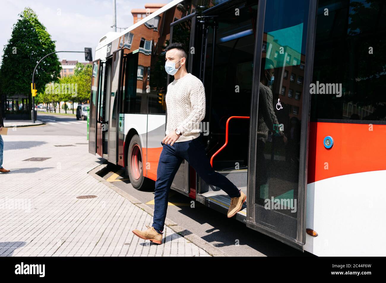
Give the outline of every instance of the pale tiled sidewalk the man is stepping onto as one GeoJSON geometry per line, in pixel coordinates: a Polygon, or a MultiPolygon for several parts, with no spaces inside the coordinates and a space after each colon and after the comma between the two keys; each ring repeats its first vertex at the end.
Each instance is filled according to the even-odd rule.
{"type": "Polygon", "coordinates": [[[87,173],[104,160],[85,137],[3,139],[0,256],[210,256],[169,227],[160,245],[135,236],[151,214],[87,173]],[[50,158],[24,161],[32,157],[50,158]],[[97,197],[76,198],[85,195],[97,197]]]}

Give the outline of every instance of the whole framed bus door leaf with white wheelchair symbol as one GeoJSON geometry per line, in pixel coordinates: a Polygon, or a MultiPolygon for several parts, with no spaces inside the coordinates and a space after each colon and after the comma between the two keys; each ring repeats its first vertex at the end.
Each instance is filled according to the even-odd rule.
{"type": "Polygon", "coordinates": [[[316,1],[259,1],[246,225],[303,251],[316,1]]]}

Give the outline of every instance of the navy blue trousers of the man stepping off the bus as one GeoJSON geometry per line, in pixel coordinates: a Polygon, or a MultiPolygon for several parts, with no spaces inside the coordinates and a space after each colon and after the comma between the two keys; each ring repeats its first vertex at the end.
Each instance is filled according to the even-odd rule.
{"type": "Polygon", "coordinates": [[[154,192],[154,216],[153,227],[163,231],[166,210],[168,209],[168,197],[171,183],[174,176],[186,159],[197,174],[207,184],[221,188],[231,198],[240,196],[240,190],[229,181],[225,176],[213,170],[209,158],[205,153],[204,144],[201,142],[201,136],[190,141],[174,142],[173,146],[164,144],[161,141],[163,149],[157,167],[157,181],[154,192]]]}

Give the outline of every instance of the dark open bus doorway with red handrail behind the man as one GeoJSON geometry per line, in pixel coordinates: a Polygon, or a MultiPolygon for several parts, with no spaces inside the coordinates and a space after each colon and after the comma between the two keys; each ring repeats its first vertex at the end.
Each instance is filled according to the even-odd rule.
{"type": "MultiPolygon", "coordinates": [[[[228,1],[196,12],[193,74],[205,87],[201,141],[215,171],[247,195],[249,124],[258,5],[228,1]]],[[[227,213],[231,199],[198,178],[196,199],[227,213]]],[[[244,221],[246,205],[235,215],[244,221]]]]}

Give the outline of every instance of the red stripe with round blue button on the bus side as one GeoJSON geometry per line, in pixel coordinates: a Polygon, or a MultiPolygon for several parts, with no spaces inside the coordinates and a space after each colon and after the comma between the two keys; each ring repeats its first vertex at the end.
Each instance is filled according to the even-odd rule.
{"type": "Polygon", "coordinates": [[[308,181],[386,170],[386,125],[310,123],[308,181]],[[326,149],[326,136],[334,146],[326,149]]]}

